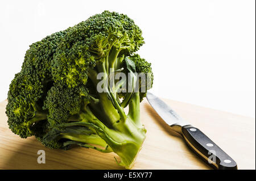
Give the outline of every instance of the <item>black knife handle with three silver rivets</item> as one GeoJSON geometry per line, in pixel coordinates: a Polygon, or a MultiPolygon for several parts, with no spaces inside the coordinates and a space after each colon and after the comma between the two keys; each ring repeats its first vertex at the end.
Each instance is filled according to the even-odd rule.
{"type": "Polygon", "coordinates": [[[186,125],[181,131],[189,148],[213,169],[237,170],[237,163],[199,129],[186,125]]]}

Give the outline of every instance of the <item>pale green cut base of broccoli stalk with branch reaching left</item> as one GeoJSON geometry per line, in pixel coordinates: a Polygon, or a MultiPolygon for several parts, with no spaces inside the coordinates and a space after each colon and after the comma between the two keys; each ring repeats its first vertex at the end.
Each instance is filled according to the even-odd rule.
{"type": "Polygon", "coordinates": [[[86,113],[83,115],[85,117],[79,122],[67,123],[63,126],[79,125],[93,130],[119,155],[121,158],[119,165],[129,169],[133,165],[139,150],[141,150],[146,130],[144,128],[138,128],[130,117],[127,117],[124,123],[118,123],[118,126],[114,130],[107,128],[100,120],[96,118],[92,119],[92,115],[86,113]]]}

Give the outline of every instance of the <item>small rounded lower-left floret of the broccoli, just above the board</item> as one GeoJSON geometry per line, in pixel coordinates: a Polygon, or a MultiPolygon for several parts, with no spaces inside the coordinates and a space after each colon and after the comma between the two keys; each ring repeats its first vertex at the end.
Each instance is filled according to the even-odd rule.
{"type": "Polygon", "coordinates": [[[31,74],[18,73],[11,82],[6,114],[11,131],[22,138],[33,136],[34,123],[47,119],[47,111],[38,101],[42,87],[39,78],[31,74]]]}

